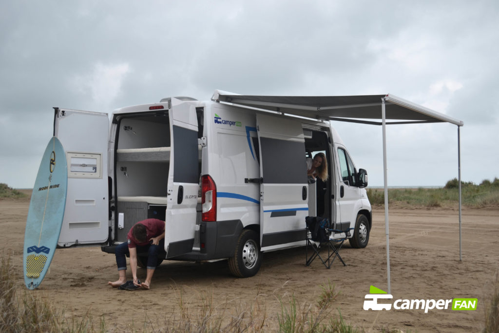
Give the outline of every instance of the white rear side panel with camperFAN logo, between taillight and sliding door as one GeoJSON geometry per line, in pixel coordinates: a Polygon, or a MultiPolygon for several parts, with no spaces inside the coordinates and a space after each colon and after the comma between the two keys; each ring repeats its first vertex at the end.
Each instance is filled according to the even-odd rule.
{"type": "Polygon", "coordinates": [[[212,133],[206,174],[217,184],[217,219],[241,220],[243,226],[259,224],[259,185],[245,183],[246,178],[260,177],[253,145],[257,138],[254,113],[213,103],[205,118],[207,114],[213,118],[205,119],[207,133],[212,133]]]}

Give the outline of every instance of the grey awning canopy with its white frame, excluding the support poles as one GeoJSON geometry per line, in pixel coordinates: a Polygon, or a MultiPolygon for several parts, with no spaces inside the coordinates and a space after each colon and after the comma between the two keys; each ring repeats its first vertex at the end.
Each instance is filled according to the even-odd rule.
{"type": "Polygon", "coordinates": [[[391,95],[358,96],[255,96],[216,90],[212,99],[242,107],[265,109],[318,120],[339,120],[381,125],[381,100],[385,99],[387,124],[449,122],[463,126],[461,120],[391,95]]]}

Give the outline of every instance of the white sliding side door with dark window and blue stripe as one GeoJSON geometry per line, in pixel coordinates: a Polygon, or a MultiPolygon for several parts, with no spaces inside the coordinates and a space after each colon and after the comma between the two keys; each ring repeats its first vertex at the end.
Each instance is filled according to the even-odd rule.
{"type": "Polygon", "coordinates": [[[304,243],[308,215],[305,141],[301,123],[256,115],[260,145],[260,244],[274,250],[304,243]]]}

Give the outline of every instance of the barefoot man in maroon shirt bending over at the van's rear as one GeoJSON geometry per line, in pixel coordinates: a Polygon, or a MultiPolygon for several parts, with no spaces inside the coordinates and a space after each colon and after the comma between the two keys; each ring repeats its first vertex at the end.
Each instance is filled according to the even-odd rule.
{"type": "Polygon", "coordinates": [[[133,284],[128,284],[123,289],[133,290],[140,287],[149,289],[151,279],[158,262],[158,252],[165,247],[165,221],[147,219],[137,222],[128,232],[128,242],[116,247],[116,264],[119,279],[107,284],[113,288],[127,284],[126,280],[126,255],[130,255],[130,268],[132,269],[133,284]],[[139,283],[137,279],[137,251],[148,252],[146,281],[139,283]]]}

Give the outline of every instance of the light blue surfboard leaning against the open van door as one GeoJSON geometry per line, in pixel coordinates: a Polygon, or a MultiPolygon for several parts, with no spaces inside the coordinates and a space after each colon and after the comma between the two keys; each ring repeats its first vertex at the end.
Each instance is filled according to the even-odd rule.
{"type": "Polygon", "coordinates": [[[48,142],[38,168],[24,232],[24,284],[30,290],[40,285],[54,256],[66,194],[66,154],[54,136],[48,142]]]}

